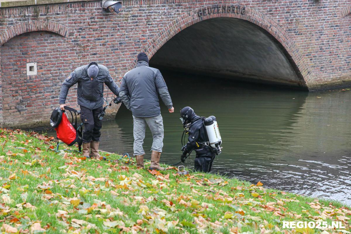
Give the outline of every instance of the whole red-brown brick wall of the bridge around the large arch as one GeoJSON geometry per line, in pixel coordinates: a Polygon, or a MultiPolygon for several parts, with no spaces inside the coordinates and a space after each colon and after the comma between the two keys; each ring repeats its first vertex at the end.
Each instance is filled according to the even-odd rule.
{"type": "MultiPolygon", "coordinates": [[[[123,6],[109,15],[102,15],[101,1],[0,8],[0,122],[45,122],[58,105],[59,84],[76,67],[98,61],[120,81],[137,53],[152,56],[182,29],[213,17],[264,28],[290,54],[310,90],[351,81],[349,0],[127,0],[123,6]],[[198,9],[216,4],[245,6],[246,14],[198,17],[198,9]],[[37,76],[26,76],[27,61],[38,63],[37,76]]],[[[69,95],[74,100],[74,90],[69,95]]]]}

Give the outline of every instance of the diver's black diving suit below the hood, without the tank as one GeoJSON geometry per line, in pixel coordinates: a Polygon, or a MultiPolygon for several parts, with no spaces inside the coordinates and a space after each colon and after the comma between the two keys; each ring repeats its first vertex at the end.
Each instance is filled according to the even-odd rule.
{"type": "Polygon", "coordinates": [[[210,146],[201,144],[208,141],[206,128],[204,126],[205,118],[201,118],[198,115],[193,115],[191,117],[188,142],[183,149],[183,156],[194,149],[196,151],[196,158],[194,161],[195,170],[210,172],[216,154],[212,151],[210,146]]]}

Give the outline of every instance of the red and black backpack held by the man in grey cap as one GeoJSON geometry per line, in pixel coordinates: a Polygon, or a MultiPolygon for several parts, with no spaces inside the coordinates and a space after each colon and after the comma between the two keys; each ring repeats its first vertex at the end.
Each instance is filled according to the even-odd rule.
{"type": "Polygon", "coordinates": [[[62,111],[60,107],[54,109],[50,117],[50,125],[55,129],[57,138],[64,142],[68,146],[73,146],[78,143],[79,152],[81,152],[82,146],[82,128],[77,128],[77,110],[65,106],[65,111],[62,111]],[[67,113],[69,111],[72,116],[72,122],[69,122],[67,113]],[[75,120],[73,119],[73,113],[75,120]]]}

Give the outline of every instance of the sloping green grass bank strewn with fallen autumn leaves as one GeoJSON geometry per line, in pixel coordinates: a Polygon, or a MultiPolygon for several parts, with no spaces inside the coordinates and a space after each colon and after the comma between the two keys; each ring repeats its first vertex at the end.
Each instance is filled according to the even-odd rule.
{"type": "Polygon", "coordinates": [[[138,170],[128,158],[87,160],[19,130],[1,129],[0,142],[2,232],[350,233],[349,208],[260,182],[138,170]],[[346,229],[283,229],[283,220],[342,221],[346,229]]]}

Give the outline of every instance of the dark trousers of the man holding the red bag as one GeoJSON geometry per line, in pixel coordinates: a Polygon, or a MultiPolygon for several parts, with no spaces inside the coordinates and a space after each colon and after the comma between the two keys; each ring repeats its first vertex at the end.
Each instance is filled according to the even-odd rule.
{"type": "Polygon", "coordinates": [[[84,123],[82,137],[83,143],[100,141],[102,121],[98,119],[98,115],[102,110],[102,106],[93,110],[80,106],[80,110],[80,119],[84,123]]]}

